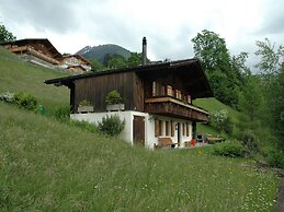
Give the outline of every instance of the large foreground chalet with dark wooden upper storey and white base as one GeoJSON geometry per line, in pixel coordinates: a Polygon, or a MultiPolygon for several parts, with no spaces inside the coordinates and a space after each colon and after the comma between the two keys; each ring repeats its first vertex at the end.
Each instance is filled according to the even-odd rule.
{"type": "Polygon", "coordinates": [[[121,137],[150,149],[162,139],[185,146],[194,138],[196,122],[208,121],[208,113],[193,106],[192,101],[213,96],[197,59],[87,73],[45,83],[70,89],[71,118],[98,122],[106,115],[117,114],[126,122],[121,137]],[[105,96],[113,90],[120,92],[124,110],[106,111],[105,96]],[[91,103],[94,113],[78,114],[83,99],[91,103]]]}

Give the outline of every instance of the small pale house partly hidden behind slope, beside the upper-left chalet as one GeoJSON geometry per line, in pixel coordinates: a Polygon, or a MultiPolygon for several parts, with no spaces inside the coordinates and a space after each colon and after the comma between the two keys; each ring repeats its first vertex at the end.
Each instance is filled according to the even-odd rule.
{"type": "Polygon", "coordinates": [[[60,68],[68,69],[72,74],[91,71],[91,63],[80,55],[63,56],[59,62],[60,68]]]}

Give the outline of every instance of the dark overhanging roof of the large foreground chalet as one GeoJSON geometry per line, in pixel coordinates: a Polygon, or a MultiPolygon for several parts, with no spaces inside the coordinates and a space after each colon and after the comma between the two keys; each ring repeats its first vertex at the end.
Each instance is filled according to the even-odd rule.
{"type": "Polygon", "coordinates": [[[69,86],[73,81],[88,78],[99,78],[101,75],[136,72],[140,76],[159,75],[159,74],[174,74],[183,80],[183,84],[188,86],[189,91],[195,91],[193,98],[213,97],[213,91],[209,82],[202,69],[198,59],[177,60],[169,62],[149,63],[138,67],[128,67],[124,69],[112,69],[100,72],[89,72],[72,76],[65,76],[58,79],[46,80],[46,84],[55,84],[56,86],[69,86]]]}

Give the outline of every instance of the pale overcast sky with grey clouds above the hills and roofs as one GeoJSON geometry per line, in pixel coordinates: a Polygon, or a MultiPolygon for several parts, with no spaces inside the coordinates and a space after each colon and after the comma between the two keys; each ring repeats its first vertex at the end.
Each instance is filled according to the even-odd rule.
{"type": "Polygon", "coordinates": [[[284,45],[283,0],[1,0],[0,22],[22,38],[48,38],[58,51],[117,44],[150,60],[192,58],[191,39],[208,30],[231,55],[250,54],[268,37],[284,45]]]}

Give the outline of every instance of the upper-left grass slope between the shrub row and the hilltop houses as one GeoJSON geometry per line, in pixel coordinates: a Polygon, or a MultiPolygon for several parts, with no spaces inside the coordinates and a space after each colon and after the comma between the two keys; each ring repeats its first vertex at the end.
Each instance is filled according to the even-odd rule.
{"type": "Polygon", "coordinates": [[[53,114],[55,106],[69,105],[69,91],[66,86],[46,85],[44,81],[64,75],[66,74],[24,62],[0,47],[0,93],[26,92],[35,96],[48,114],[53,114]]]}

